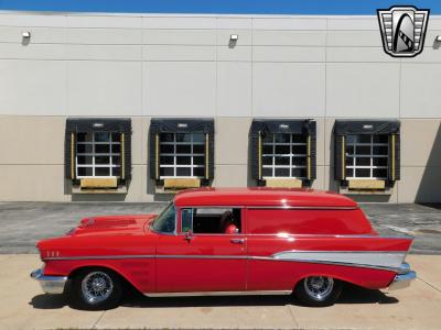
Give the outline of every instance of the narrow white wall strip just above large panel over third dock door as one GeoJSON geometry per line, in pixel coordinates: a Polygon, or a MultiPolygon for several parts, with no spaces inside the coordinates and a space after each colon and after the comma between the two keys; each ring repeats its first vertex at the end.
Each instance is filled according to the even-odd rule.
{"type": "Polygon", "coordinates": [[[259,46],[252,50],[254,62],[324,62],[324,47],[259,46]]]}

